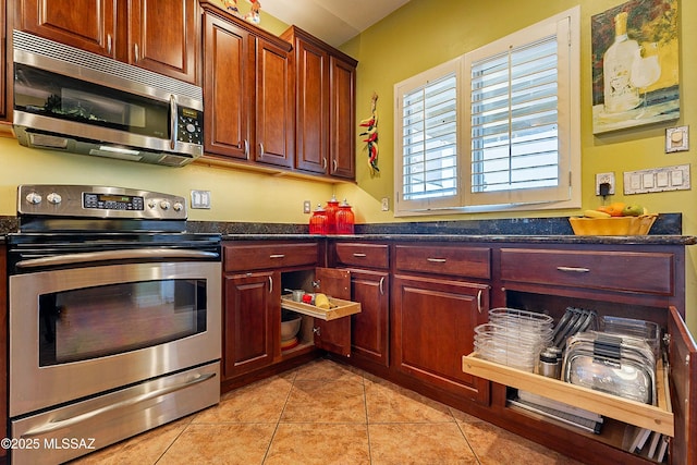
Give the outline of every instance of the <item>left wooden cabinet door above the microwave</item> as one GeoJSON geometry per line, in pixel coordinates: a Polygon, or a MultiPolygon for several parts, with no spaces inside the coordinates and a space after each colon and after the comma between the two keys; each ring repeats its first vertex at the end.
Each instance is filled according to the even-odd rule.
{"type": "Polygon", "coordinates": [[[115,54],[117,0],[20,0],[14,24],[93,53],[115,54]]]}

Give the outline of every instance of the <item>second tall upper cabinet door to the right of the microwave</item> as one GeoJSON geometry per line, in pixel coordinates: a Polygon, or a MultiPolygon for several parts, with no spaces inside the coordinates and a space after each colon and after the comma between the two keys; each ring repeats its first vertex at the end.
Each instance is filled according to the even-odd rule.
{"type": "Polygon", "coordinates": [[[295,106],[290,56],[257,38],[255,160],[292,168],[295,151],[295,106]]]}

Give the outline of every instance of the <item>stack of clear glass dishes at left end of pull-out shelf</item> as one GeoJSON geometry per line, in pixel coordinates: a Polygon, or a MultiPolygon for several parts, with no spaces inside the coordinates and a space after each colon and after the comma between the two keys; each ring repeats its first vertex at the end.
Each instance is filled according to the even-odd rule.
{"type": "Polygon", "coordinates": [[[533,372],[552,341],[552,323],[549,315],[493,308],[489,322],[475,328],[475,351],[486,360],[533,372]]]}

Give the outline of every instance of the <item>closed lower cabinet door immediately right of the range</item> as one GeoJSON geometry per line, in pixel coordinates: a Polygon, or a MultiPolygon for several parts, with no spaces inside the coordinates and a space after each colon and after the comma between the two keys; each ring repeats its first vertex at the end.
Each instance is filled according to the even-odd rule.
{"type": "Polygon", "coordinates": [[[270,365],[280,341],[280,276],[260,272],[224,278],[223,376],[270,365]]]}

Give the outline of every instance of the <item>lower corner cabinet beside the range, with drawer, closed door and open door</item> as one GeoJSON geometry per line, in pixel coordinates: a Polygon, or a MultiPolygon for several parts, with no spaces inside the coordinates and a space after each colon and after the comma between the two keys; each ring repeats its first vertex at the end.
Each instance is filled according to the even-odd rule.
{"type": "Polygon", "coordinates": [[[351,315],[325,320],[282,305],[282,294],[290,290],[351,298],[351,273],[317,267],[320,250],[316,242],[223,245],[223,390],[241,378],[249,381],[311,357],[317,350],[351,356],[351,315]],[[282,341],[283,317],[298,315],[297,335],[282,341]]]}

